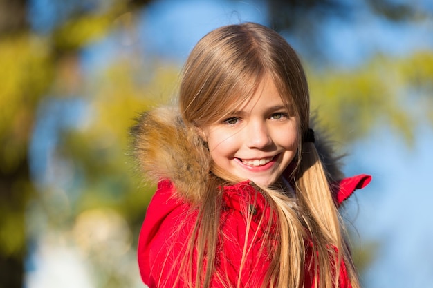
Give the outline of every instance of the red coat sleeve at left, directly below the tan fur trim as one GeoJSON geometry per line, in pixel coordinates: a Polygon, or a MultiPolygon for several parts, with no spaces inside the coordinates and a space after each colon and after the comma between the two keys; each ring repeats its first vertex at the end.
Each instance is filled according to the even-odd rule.
{"type": "Polygon", "coordinates": [[[174,287],[174,263],[185,249],[189,206],[173,198],[171,182],[161,181],[147,208],[138,238],[138,267],[142,281],[150,288],[174,287]],[[179,226],[180,224],[183,226],[179,226]],[[176,251],[176,252],[175,252],[176,251]]]}

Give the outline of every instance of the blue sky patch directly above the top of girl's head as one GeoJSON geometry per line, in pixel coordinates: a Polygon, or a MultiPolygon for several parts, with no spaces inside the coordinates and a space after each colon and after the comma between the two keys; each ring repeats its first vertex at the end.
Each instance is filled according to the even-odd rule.
{"type": "Polygon", "coordinates": [[[154,1],[142,13],[141,35],[147,52],[183,60],[210,30],[244,21],[266,25],[267,13],[260,1],[154,1]]]}

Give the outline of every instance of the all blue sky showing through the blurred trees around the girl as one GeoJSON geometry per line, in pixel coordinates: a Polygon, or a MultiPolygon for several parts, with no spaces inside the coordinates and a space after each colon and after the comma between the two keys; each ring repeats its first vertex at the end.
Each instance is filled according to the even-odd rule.
{"type": "MultiPolygon", "coordinates": [[[[42,12],[42,8],[52,1],[33,2],[33,11],[46,21],[45,24],[33,21],[35,28],[48,29],[55,18],[50,19],[46,14],[54,12],[42,12]],[[46,13],[44,17],[43,13],[46,13]]],[[[330,19],[323,26],[323,46],[335,66],[360,64],[377,51],[405,55],[420,48],[433,48],[432,21],[422,26],[391,26],[387,21],[368,17],[362,7],[359,11],[349,24],[330,19]]],[[[268,24],[266,6],[260,1],[155,1],[142,12],[140,41],[145,47],[144,52],[182,63],[206,32],[241,21],[268,24]]],[[[105,39],[89,47],[83,53],[84,66],[91,69],[107,62],[116,53],[115,42],[105,39]]],[[[302,54],[302,51],[298,52],[302,54]]],[[[51,121],[45,127],[51,125],[55,129],[53,123],[57,120],[47,117],[44,121],[51,121]]],[[[349,203],[361,244],[370,240],[381,244],[367,273],[368,288],[433,287],[433,248],[430,245],[433,241],[430,216],[433,203],[433,193],[430,192],[433,131],[431,126],[422,124],[415,130],[412,148],[387,126],[378,127],[369,137],[348,147],[347,173],[369,173],[374,177],[371,184],[358,191],[356,198],[351,198],[349,203]]],[[[36,146],[39,145],[39,153],[55,145],[55,131],[46,133],[50,135],[44,137],[48,141],[35,142],[36,146]]],[[[42,134],[39,141],[41,139],[42,134]]],[[[46,161],[40,155],[33,160],[46,161]]],[[[29,283],[28,287],[38,286],[29,283]]]]}

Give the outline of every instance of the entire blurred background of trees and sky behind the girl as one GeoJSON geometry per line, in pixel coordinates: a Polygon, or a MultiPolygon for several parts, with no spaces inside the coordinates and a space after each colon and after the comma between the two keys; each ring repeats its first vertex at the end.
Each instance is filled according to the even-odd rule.
{"type": "Polygon", "coordinates": [[[364,287],[433,287],[433,1],[0,0],[0,287],[144,287],[154,187],[128,157],[206,32],[255,21],[302,57],[347,175],[364,287]]]}

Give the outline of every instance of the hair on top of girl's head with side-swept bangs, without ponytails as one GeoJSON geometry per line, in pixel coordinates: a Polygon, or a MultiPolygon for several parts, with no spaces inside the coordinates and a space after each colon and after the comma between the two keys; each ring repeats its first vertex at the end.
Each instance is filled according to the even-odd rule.
{"type": "Polygon", "coordinates": [[[199,41],[181,81],[185,123],[221,122],[252,99],[265,77],[273,80],[291,115],[308,122],[308,88],[299,59],[282,37],[268,33],[256,26],[226,26],[199,41]]]}

